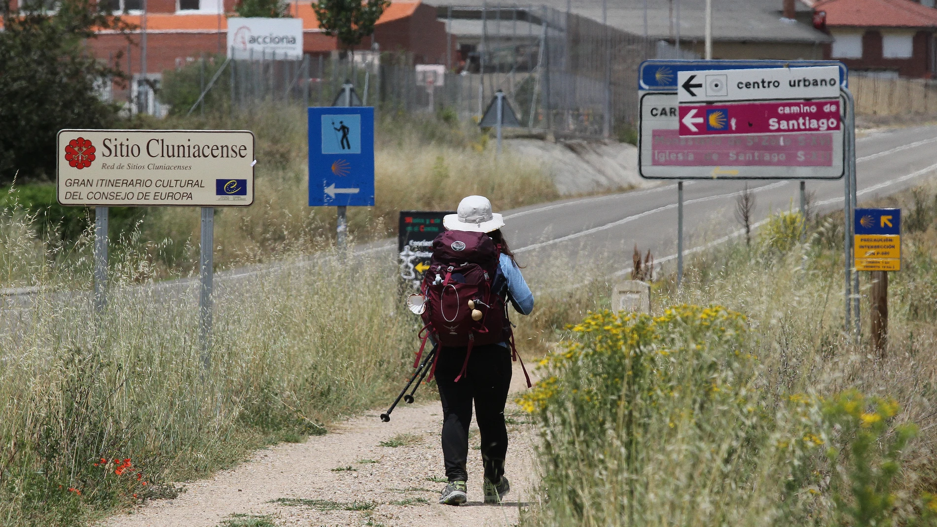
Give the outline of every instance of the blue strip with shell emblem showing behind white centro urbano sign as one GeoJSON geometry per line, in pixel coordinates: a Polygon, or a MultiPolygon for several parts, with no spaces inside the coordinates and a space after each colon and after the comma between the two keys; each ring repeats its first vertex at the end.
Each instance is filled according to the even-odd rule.
{"type": "MultiPolygon", "coordinates": [[[[677,73],[710,69],[766,69],[771,67],[839,66],[840,84],[846,86],[849,75],[839,61],[779,61],[779,60],[682,60],[651,59],[638,66],[638,90],[650,92],[676,92],[677,73]]],[[[695,86],[694,86],[695,87],[695,86]]],[[[699,86],[702,87],[702,84],[699,86]]]]}

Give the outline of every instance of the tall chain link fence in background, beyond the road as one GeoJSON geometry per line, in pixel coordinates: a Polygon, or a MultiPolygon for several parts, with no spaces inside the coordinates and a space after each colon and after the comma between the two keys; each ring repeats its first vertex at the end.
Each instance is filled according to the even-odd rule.
{"type": "Polygon", "coordinates": [[[451,67],[415,65],[406,52],[356,51],[348,56],[305,55],[302,60],[249,56],[226,61],[207,84],[202,81],[203,100],[191,109],[220,99],[227,99],[225,106],[232,112],[261,103],[332,106],[349,83],[356,95],[353,104],[478,120],[502,91],[528,128],[608,137],[636,124],[642,61],[698,58],[666,42],[550,7],[467,7],[459,14],[468,20],[477,17],[482,36],[467,56],[451,57],[451,67]],[[488,31],[489,19],[497,30],[488,31]],[[518,33],[518,23],[525,32],[518,33]],[[500,31],[505,24],[513,31],[500,31]]]}

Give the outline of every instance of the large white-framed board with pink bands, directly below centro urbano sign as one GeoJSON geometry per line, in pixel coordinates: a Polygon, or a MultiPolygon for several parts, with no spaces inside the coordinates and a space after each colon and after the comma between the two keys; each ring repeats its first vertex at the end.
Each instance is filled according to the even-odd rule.
{"type": "Polygon", "coordinates": [[[835,180],[844,172],[839,99],[680,104],[676,94],[650,93],[640,101],[642,177],[835,180]]]}

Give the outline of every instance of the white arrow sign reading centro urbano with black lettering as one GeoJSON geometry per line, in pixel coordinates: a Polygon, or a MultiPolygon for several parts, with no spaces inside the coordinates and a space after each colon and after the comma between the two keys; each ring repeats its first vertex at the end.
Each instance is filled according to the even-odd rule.
{"type": "Polygon", "coordinates": [[[840,96],[838,66],[677,72],[680,103],[814,99],[840,96]]]}

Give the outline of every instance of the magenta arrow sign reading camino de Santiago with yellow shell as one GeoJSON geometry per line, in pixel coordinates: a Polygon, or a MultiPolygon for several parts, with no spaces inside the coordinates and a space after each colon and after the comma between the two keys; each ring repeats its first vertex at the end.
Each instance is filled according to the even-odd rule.
{"type": "Polygon", "coordinates": [[[840,129],[840,101],[679,105],[679,135],[779,134],[840,129]]]}

